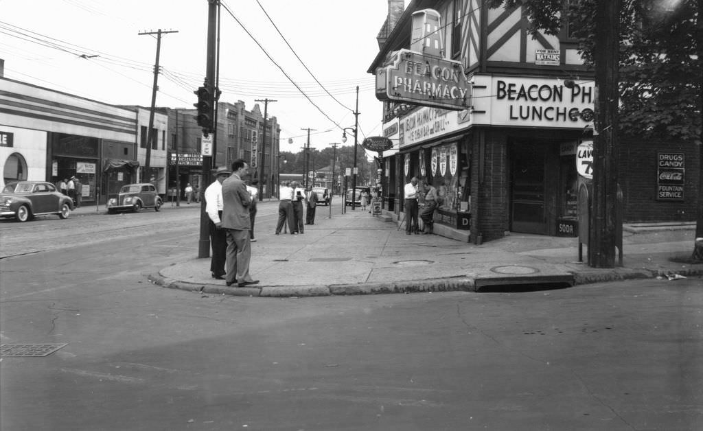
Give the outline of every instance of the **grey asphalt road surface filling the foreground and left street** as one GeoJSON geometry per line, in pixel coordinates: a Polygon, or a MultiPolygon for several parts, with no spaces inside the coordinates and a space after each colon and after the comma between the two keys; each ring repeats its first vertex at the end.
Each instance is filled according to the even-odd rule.
{"type": "Polygon", "coordinates": [[[67,343],[1,359],[2,430],[703,429],[699,278],[301,299],[148,283],[197,254],[197,214],[0,223],[2,343],[67,343]]]}

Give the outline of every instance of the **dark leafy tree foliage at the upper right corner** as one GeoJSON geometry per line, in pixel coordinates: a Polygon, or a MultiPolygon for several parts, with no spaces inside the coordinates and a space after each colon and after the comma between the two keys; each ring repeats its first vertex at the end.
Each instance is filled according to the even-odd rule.
{"type": "MultiPolygon", "coordinates": [[[[699,0],[622,0],[619,127],[621,136],[700,143],[703,44],[699,0]]],[[[593,67],[596,0],[489,0],[491,8],[522,6],[530,32],[568,28],[593,67]]]]}

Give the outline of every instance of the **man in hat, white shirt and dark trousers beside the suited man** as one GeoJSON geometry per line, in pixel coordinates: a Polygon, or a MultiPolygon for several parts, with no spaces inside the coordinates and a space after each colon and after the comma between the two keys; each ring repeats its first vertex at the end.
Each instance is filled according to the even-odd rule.
{"type": "Polygon", "coordinates": [[[224,280],[224,265],[227,259],[227,231],[222,229],[222,181],[231,174],[226,166],[217,168],[215,181],[205,189],[205,212],[209,217],[210,245],[212,259],[210,259],[210,272],[212,278],[224,280]]]}

